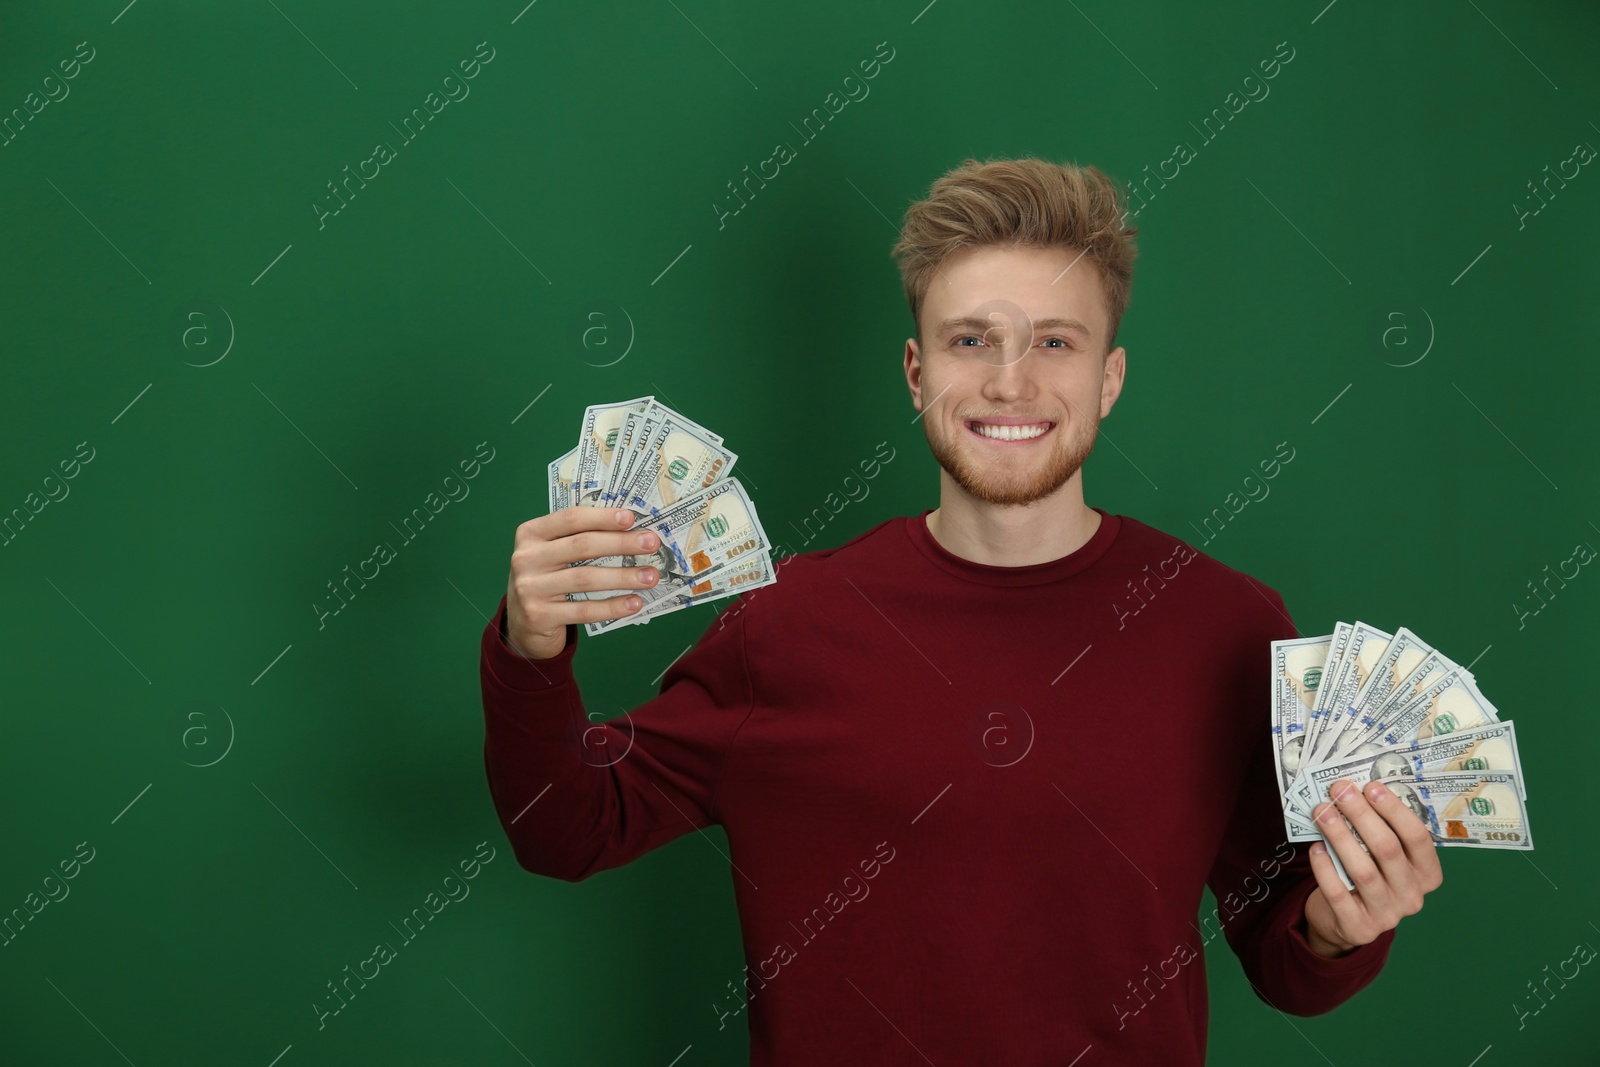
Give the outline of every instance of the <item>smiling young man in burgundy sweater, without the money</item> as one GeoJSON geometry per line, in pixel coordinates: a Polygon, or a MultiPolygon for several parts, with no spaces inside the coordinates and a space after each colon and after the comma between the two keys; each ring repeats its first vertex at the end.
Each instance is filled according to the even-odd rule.
{"type": "Polygon", "coordinates": [[[1083,501],[1126,371],[1122,203],[1094,168],[968,160],[909,210],[939,507],[786,557],[626,720],[586,718],[573,656],[579,622],[637,605],[565,593],[653,576],[566,565],[654,536],[595,507],[517,530],[482,641],[506,835],[578,881],[720,824],[749,966],[714,1011],[749,1009],[752,1064],[1200,1064],[1218,928],[1262,1000],[1317,1014],[1440,885],[1382,787],[1318,808],[1355,893],[1283,840],[1283,600],[1083,501]]]}

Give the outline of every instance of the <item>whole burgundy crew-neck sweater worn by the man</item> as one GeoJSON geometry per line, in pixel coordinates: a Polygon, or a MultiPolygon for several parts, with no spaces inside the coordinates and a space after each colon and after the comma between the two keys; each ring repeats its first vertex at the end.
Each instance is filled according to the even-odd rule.
{"type": "Polygon", "coordinates": [[[1218,933],[1266,1003],[1336,1008],[1394,934],[1339,960],[1304,937],[1269,750],[1283,600],[1094,510],[1029,566],[947,552],[928,512],[786,557],[605,723],[579,627],[523,659],[502,600],[483,755],[517,861],[578,881],[722,825],[747,966],[706,997],[757,1067],[1202,1064],[1218,933]]]}

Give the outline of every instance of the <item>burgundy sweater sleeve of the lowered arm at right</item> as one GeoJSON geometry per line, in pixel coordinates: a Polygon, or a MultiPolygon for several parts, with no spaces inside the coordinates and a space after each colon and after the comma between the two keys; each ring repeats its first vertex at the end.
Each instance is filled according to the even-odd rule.
{"type": "MultiPolygon", "coordinates": [[[[1261,589],[1280,616],[1267,641],[1296,637],[1283,600],[1261,589]]],[[[1246,653],[1240,699],[1246,709],[1261,709],[1269,693],[1269,645],[1261,643],[1246,653]]],[[[1288,1014],[1315,1016],[1333,1011],[1378,977],[1395,931],[1336,960],[1312,952],[1306,941],[1306,897],[1317,888],[1310,845],[1290,843],[1283,832],[1269,713],[1250,712],[1246,718],[1259,728],[1246,734],[1248,769],[1208,885],[1218,899],[1218,915],[1226,917],[1222,931],[1229,947],[1256,997],[1288,1014]]]]}

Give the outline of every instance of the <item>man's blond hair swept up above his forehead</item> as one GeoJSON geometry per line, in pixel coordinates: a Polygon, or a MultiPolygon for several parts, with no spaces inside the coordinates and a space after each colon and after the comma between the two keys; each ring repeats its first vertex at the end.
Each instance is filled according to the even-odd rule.
{"type": "Polygon", "coordinates": [[[1133,296],[1138,230],[1126,226],[1126,192],[1096,166],[1040,158],[968,158],[946,173],[906,210],[891,250],[899,262],[906,302],[922,338],[922,302],[939,266],[970,246],[1061,248],[1083,253],[1099,270],[1106,296],[1110,352],[1133,296]]]}

